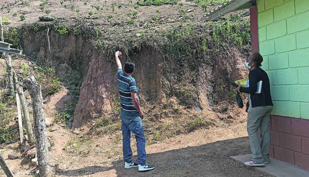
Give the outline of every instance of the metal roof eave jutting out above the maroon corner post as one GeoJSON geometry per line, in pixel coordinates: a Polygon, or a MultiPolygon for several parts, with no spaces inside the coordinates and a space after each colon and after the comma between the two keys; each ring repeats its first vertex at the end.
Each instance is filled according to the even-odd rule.
{"type": "Polygon", "coordinates": [[[230,0],[227,3],[223,4],[222,6],[215,9],[214,11],[211,11],[206,16],[209,17],[209,21],[213,21],[229,12],[248,9],[252,6],[255,6],[255,3],[253,3],[253,1],[254,0],[230,0]]]}

